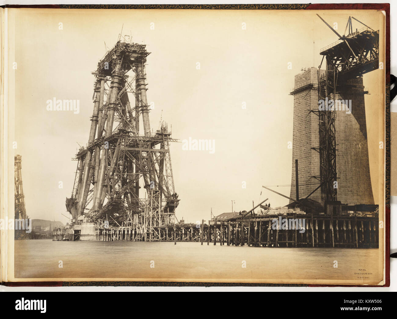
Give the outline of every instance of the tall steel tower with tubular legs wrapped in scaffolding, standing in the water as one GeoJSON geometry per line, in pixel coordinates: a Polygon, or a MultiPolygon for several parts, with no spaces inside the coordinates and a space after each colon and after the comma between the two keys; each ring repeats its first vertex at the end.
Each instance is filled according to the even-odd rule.
{"type": "Polygon", "coordinates": [[[164,122],[156,133],[150,128],[145,72],[149,54],[144,44],[119,36],[93,72],[89,140],[76,155],[75,182],[66,208],[73,221],[85,216],[102,226],[132,227],[142,240],[157,240],[153,227],[174,223],[179,199],[170,158],[170,142],[175,140],[164,122]]]}

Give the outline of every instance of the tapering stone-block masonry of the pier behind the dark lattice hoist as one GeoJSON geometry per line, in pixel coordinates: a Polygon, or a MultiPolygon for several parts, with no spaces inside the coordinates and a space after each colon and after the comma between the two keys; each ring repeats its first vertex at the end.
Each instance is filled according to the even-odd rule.
{"type": "MultiPolygon", "coordinates": [[[[321,70],[321,75],[324,70],[321,70]]],[[[364,86],[362,77],[341,83],[336,98],[351,100],[352,111],[336,112],[335,130],[337,143],[337,199],[343,204],[374,204],[372,194],[368,142],[366,133],[364,86]]],[[[319,146],[318,69],[311,67],[295,75],[293,150],[291,198],[296,198],[295,159],[299,166],[299,197],[310,194],[320,183],[320,155],[314,149],[319,146]]],[[[316,190],[311,199],[322,204],[321,191],[316,190]]]]}

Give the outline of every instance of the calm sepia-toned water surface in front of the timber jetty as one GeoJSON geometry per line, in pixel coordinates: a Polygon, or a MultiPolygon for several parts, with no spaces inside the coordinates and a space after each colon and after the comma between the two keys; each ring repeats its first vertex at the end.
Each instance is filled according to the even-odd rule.
{"type": "Polygon", "coordinates": [[[15,241],[15,278],[357,279],[378,273],[378,249],[203,246],[195,242],[15,241]],[[63,268],[58,262],[63,261],[63,268]],[[338,268],[333,267],[334,260],[338,268]],[[150,262],[154,261],[154,268],[150,262]],[[242,261],[247,267],[243,268],[242,261]]]}

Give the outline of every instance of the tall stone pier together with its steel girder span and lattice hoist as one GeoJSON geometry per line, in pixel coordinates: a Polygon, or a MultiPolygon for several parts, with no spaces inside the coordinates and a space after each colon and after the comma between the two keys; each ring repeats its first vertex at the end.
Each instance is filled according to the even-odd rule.
{"type": "MultiPolygon", "coordinates": [[[[319,15],[318,15],[319,16],[319,15]]],[[[320,17],[320,16],[319,16],[320,17]]],[[[320,19],[322,19],[320,17],[320,19]]],[[[295,160],[300,163],[299,193],[326,204],[374,204],[370,178],[362,75],[379,67],[379,30],[349,17],[339,40],[321,49],[321,65],[295,76],[291,197],[295,198],[295,160]],[[321,63],[322,64],[322,63],[321,63]],[[351,100],[351,114],[335,107],[320,110],[320,101],[351,100]],[[337,184],[335,184],[337,182],[337,184]],[[336,185],[336,187],[335,187],[336,185]]]]}

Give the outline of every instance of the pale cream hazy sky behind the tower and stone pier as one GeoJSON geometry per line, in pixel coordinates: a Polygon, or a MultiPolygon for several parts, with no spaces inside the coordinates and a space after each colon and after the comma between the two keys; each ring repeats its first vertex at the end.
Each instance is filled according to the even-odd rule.
{"type": "MultiPolygon", "coordinates": [[[[215,140],[215,152],[184,151],[172,143],[178,219],[195,222],[252,207],[270,198],[288,203],[262,185],[289,195],[294,75],[318,66],[320,48],[337,40],[315,11],[289,10],[65,10],[13,9],[15,13],[15,154],[22,156],[27,213],[66,223],[75,156],[88,141],[96,64],[105,44],[123,35],[147,44],[151,127],[160,115],[180,140],[215,140]],[[59,29],[62,23],[63,29],[59,29]],[[154,23],[154,30],[150,29],[154,23]],[[246,23],[246,30],[242,29],[246,23]],[[315,43],[313,43],[313,40],[315,43]],[[200,69],[196,69],[197,62],[200,69]],[[288,62],[292,69],[287,68],[288,62]],[[80,100],[79,114],[47,111],[48,99],[80,100]],[[242,108],[245,102],[246,109],[242,108]],[[63,188],[58,188],[59,181],[63,188]],[[247,188],[242,188],[245,181],[247,188]],[[263,190],[263,191],[262,191],[263,190]],[[261,194],[262,192],[262,194],[261,194]]],[[[380,12],[319,12],[343,34],[349,15],[381,29],[380,12]]],[[[353,28],[362,25],[353,21],[353,28]]],[[[12,39],[10,39],[12,42],[12,39]]],[[[324,66],[324,65],[323,65],[324,66]]],[[[364,75],[370,168],[375,203],[382,129],[379,101],[383,70],[364,75]],[[373,107],[371,107],[373,106],[373,107]],[[372,125],[372,126],[370,126],[372,125]],[[374,186],[374,184],[376,186],[374,186]]],[[[131,98],[130,98],[131,99],[131,98]]],[[[11,107],[11,106],[10,106],[11,107]]],[[[382,197],[382,196],[381,196],[382,197]]]]}

